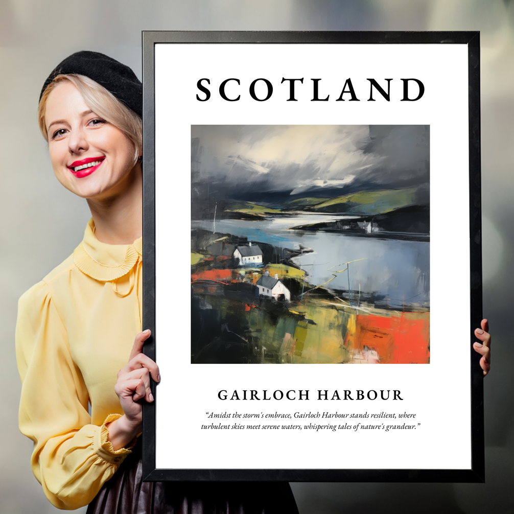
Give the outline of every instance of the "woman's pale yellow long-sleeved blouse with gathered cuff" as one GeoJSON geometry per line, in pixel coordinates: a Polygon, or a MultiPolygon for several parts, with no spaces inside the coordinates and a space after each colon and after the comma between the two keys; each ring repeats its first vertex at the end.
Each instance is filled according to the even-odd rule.
{"type": "Polygon", "coordinates": [[[142,240],[107,245],[94,231],[91,219],[74,253],[20,298],[16,324],[20,430],[61,509],[91,502],[130,453],[114,451],[105,424],[123,414],[116,375],[141,331],[142,240]]]}

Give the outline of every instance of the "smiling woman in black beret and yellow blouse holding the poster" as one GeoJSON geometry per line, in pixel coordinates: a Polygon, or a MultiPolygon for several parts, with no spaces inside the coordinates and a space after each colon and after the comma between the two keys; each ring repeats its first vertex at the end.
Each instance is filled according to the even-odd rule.
{"type": "Polygon", "coordinates": [[[97,52],[65,59],[42,89],[54,174],[92,218],[74,253],[20,299],[20,429],[34,443],[32,470],[62,509],[296,513],[287,483],[141,482],[141,401],[153,401],[150,377],[160,380],[141,353],[141,114],[133,71],[97,52]]]}

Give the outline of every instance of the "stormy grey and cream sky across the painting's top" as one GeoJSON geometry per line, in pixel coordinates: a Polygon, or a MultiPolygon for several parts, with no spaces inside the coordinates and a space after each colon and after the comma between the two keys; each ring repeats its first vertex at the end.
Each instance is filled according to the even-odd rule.
{"type": "Polygon", "coordinates": [[[193,188],[338,196],[428,182],[426,125],[193,125],[193,188]]]}

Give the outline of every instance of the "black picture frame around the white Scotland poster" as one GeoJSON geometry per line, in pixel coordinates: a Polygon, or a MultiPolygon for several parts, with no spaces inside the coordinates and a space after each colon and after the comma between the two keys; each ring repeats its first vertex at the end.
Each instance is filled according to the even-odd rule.
{"type": "MultiPolygon", "coordinates": [[[[143,31],[143,328],[152,329],[144,353],[158,360],[155,308],[155,108],[154,49],[156,44],[244,43],[289,44],[465,44],[469,88],[469,213],[471,466],[470,469],[160,469],[156,468],[155,402],[143,407],[143,475],[146,481],[313,481],[313,482],[484,482],[483,375],[480,356],[472,349],[473,331],[482,319],[480,33],[466,32],[258,32],[143,31]]],[[[170,444],[174,444],[171,442],[170,444]]]]}

